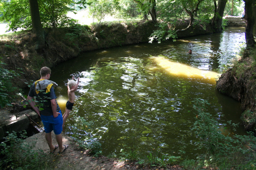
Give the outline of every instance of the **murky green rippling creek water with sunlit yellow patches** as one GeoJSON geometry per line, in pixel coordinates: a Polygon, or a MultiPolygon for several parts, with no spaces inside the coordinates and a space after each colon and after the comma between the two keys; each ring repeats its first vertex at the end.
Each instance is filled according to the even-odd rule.
{"type": "MultiPolygon", "coordinates": [[[[81,81],[65,133],[71,136],[75,118],[84,117],[95,123],[92,133],[100,138],[104,155],[131,147],[141,153],[161,150],[180,156],[186,146],[186,155],[193,157],[193,101],[201,98],[211,103],[208,111],[218,115],[220,130],[231,120],[240,124],[238,134],[244,134],[240,104],[215,90],[215,79],[244,42],[244,28],[226,28],[221,34],[176,42],[90,51],[59,64],[51,80],[59,84],[55,89],[63,112],[68,99],[65,83],[72,75],[81,81]]],[[[90,131],[80,129],[80,134],[90,131]]]]}

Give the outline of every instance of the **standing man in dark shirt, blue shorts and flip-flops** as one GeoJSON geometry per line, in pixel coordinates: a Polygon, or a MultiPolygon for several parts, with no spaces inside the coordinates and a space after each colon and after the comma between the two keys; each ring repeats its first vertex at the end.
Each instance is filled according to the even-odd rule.
{"type": "Polygon", "coordinates": [[[61,115],[61,109],[56,101],[56,95],[53,86],[57,84],[53,81],[49,81],[51,77],[51,69],[48,67],[43,67],[40,70],[41,79],[34,82],[30,87],[28,93],[28,103],[41,117],[41,120],[45,126],[45,139],[50,148],[49,153],[54,153],[57,148],[59,148],[59,154],[64,152],[68,145],[62,145],[62,124],[63,119],[61,115]],[[35,101],[32,100],[36,98],[39,101],[39,106],[42,108],[39,110],[35,101]],[[51,132],[54,131],[58,145],[53,146],[51,132]]]}

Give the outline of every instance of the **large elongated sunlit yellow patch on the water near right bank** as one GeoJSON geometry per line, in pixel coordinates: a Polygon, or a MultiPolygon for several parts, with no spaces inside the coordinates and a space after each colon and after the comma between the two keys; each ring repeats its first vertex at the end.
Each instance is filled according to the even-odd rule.
{"type": "Polygon", "coordinates": [[[158,66],[167,73],[181,78],[196,79],[205,83],[216,84],[219,74],[214,71],[200,70],[178,62],[170,61],[164,57],[151,57],[158,66]]]}

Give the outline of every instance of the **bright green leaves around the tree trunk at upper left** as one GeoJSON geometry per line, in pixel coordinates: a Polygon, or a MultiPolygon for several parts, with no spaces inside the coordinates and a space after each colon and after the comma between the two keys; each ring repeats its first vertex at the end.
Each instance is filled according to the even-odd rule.
{"type": "MultiPolygon", "coordinates": [[[[67,5],[73,3],[72,0],[39,0],[39,12],[43,27],[57,28],[68,26],[76,22],[66,16],[72,8],[67,5]]],[[[0,11],[3,16],[0,21],[9,22],[9,30],[16,31],[18,28],[29,30],[32,28],[30,7],[28,0],[11,0],[1,2],[0,11]]]]}

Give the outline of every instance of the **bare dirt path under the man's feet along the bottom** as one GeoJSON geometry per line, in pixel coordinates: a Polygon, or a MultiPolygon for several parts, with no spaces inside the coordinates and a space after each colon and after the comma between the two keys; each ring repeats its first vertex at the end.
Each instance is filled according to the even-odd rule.
{"type": "MultiPolygon", "coordinates": [[[[36,142],[37,149],[42,149],[45,154],[49,154],[49,160],[55,170],[181,170],[179,166],[170,166],[168,168],[148,168],[143,165],[119,162],[108,159],[104,156],[96,158],[88,156],[85,150],[77,148],[77,144],[72,138],[63,134],[63,144],[69,147],[62,154],[58,154],[57,149],[53,154],[49,154],[49,147],[45,140],[45,133],[41,132],[25,139],[25,142],[36,142]]],[[[55,135],[52,132],[53,145],[56,145],[55,135]]]]}

